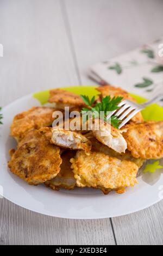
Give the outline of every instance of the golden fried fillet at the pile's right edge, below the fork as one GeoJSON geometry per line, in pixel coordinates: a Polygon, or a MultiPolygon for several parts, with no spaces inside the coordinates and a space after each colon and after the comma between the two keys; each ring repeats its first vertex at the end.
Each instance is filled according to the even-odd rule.
{"type": "Polygon", "coordinates": [[[163,121],[128,125],[123,133],[128,150],[137,158],[160,159],[163,157],[163,121]]]}

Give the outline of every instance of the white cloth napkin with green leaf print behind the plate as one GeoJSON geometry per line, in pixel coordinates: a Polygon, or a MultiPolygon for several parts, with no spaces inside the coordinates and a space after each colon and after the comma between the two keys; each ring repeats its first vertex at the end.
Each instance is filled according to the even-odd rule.
{"type": "Polygon", "coordinates": [[[116,58],[93,65],[89,76],[151,99],[163,93],[163,37],[116,58]]]}

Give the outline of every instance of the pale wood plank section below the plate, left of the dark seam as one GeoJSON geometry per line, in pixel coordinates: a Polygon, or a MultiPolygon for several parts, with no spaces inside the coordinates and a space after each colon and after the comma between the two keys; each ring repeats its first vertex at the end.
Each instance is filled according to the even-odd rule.
{"type": "Polygon", "coordinates": [[[110,220],[66,220],[0,199],[1,245],[114,245],[110,220]]]}

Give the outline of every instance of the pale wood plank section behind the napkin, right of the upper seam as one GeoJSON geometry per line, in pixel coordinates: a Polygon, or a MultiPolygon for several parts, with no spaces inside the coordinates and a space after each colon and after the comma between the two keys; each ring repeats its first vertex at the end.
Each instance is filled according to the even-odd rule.
{"type": "Polygon", "coordinates": [[[118,56],[162,35],[161,0],[64,0],[83,84],[96,62],[118,56]]]}

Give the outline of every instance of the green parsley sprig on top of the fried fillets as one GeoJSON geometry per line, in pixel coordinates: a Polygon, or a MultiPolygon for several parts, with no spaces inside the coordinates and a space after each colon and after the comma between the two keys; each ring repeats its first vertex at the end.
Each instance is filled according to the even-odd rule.
{"type": "MultiPolygon", "coordinates": [[[[84,107],[82,109],[82,112],[91,111],[92,117],[96,118],[97,116],[99,117],[100,112],[103,111],[104,112],[104,121],[108,121],[108,120],[106,120],[108,112],[112,112],[112,111],[115,111],[118,108],[120,108],[120,107],[118,107],[118,104],[123,99],[123,97],[112,97],[112,99],[111,99],[111,96],[106,96],[102,99],[101,102],[98,102],[95,105],[95,96],[93,96],[91,100],[86,95],[80,95],[80,96],[82,97],[84,103],[88,106],[88,108],[84,107]],[[93,106],[93,105],[95,105],[95,106],[93,106]]],[[[112,115],[112,117],[110,118],[109,121],[111,121],[111,125],[116,127],[117,129],[121,123],[121,120],[118,119],[116,115],[112,115]]]]}

